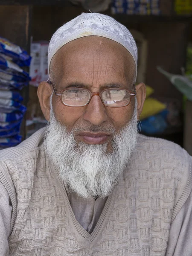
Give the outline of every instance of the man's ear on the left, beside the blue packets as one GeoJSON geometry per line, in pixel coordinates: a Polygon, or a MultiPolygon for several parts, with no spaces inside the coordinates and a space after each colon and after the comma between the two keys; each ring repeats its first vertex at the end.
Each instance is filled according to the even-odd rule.
{"type": "Polygon", "coordinates": [[[49,121],[50,116],[50,96],[52,94],[52,86],[43,81],[38,86],[38,98],[41,106],[41,110],[45,116],[45,119],[49,121]]]}

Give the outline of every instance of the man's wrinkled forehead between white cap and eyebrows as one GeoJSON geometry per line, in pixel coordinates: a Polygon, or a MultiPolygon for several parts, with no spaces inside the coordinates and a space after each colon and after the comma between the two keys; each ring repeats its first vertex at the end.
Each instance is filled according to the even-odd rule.
{"type": "MultiPolygon", "coordinates": [[[[51,61],[51,74],[61,80],[102,78],[117,83],[119,79],[132,80],[135,72],[132,55],[122,45],[108,38],[90,36],[64,45],[51,61]]],[[[119,81],[120,82],[120,81],[119,81]]]]}

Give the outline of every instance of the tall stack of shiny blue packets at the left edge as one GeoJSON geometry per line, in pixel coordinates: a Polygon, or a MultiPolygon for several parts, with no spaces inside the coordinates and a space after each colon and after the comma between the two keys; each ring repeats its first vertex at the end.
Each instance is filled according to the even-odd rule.
{"type": "Polygon", "coordinates": [[[29,85],[29,73],[23,66],[29,66],[31,57],[21,47],[0,37],[0,149],[15,146],[21,142],[21,122],[26,107],[21,104],[20,90],[29,85]]]}

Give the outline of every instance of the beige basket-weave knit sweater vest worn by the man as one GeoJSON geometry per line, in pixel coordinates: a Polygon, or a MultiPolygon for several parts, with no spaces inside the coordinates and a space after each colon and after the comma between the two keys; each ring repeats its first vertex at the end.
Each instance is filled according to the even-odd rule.
{"type": "Polygon", "coordinates": [[[9,256],[165,255],[170,224],[192,188],[186,151],[139,135],[89,234],[76,221],[58,170],[44,153],[44,131],[0,152],[0,180],[13,206],[9,256]]]}

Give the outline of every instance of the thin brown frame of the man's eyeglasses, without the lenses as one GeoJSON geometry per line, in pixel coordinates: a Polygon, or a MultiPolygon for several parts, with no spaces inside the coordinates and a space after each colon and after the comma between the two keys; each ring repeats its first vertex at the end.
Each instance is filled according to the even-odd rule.
{"type": "Polygon", "coordinates": [[[131,91],[127,90],[127,89],[118,88],[118,87],[107,88],[107,89],[104,89],[104,90],[102,90],[101,92],[97,92],[97,93],[92,93],[90,90],[85,89],[85,88],[70,87],[70,88],[66,88],[66,89],[64,89],[64,90],[61,90],[60,92],[58,91],[58,93],[57,93],[57,90],[55,89],[55,87],[53,86],[53,84],[52,84],[51,81],[49,81],[49,84],[52,85],[53,90],[54,90],[54,93],[55,93],[55,95],[57,95],[57,96],[60,98],[61,103],[62,103],[64,106],[66,106],[66,107],[72,107],[72,108],[81,108],[81,107],[87,106],[87,105],[90,103],[90,100],[92,99],[93,96],[99,96],[100,99],[101,99],[101,101],[102,101],[102,103],[103,103],[103,105],[104,105],[105,107],[109,107],[109,108],[123,108],[123,107],[127,107],[127,106],[130,104],[130,102],[131,102],[131,98],[137,95],[136,90],[134,90],[134,92],[131,92],[131,91]],[[89,101],[87,102],[87,104],[82,105],[82,106],[69,106],[69,105],[64,104],[64,103],[63,103],[63,100],[62,100],[62,94],[64,93],[65,90],[70,90],[70,89],[81,89],[81,90],[86,90],[86,91],[88,91],[89,94],[90,94],[90,99],[89,99],[89,101]],[[111,89],[118,89],[118,90],[125,90],[125,91],[127,91],[127,92],[130,94],[129,103],[128,103],[127,105],[125,105],[125,106],[117,106],[117,107],[113,107],[113,106],[108,106],[108,105],[106,105],[106,104],[103,102],[102,97],[100,96],[100,94],[103,93],[103,92],[106,91],[106,90],[111,90],[111,89]]]}

